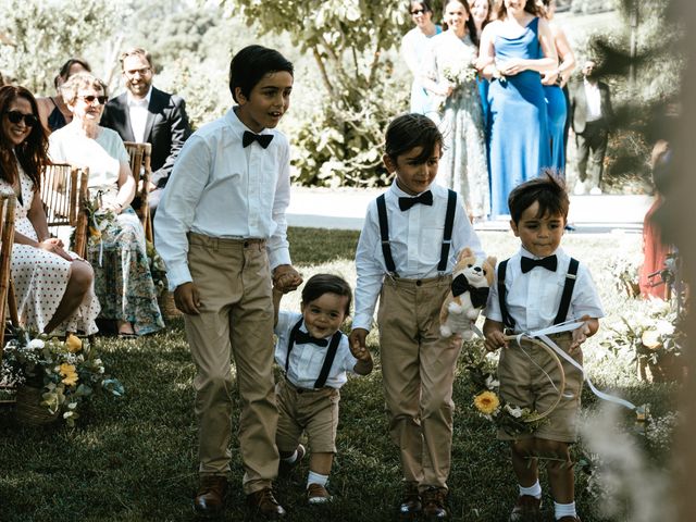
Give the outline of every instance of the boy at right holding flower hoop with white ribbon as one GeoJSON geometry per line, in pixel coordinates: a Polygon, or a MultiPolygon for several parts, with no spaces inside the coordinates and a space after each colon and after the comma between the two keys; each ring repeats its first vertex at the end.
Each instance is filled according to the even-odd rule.
{"type": "Polygon", "coordinates": [[[562,182],[543,172],[515,187],[508,206],[510,227],[522,246],[496,268],[497,284],[490,288],[484,324],[486,349],[504,348],[498,363],[500,396],[510,406],[536,411],[552,408],[558,397],[554,383],[561,370],[552,357],[522,336],[508,341],[509,334],[534,336],[544,331],[545,339],[556,345],[566,375],[566,389],[548,422],[532,434],[498,433],[499,439],[510,440],[520,486],[509,520],[539,518],[540,457],[548,459],[556,520],[580,522],[569,445],[576,440],[583,385],[581,345],[599,328],[604,310],[587,266],[560,248],[570,206],[562,182]]]}

